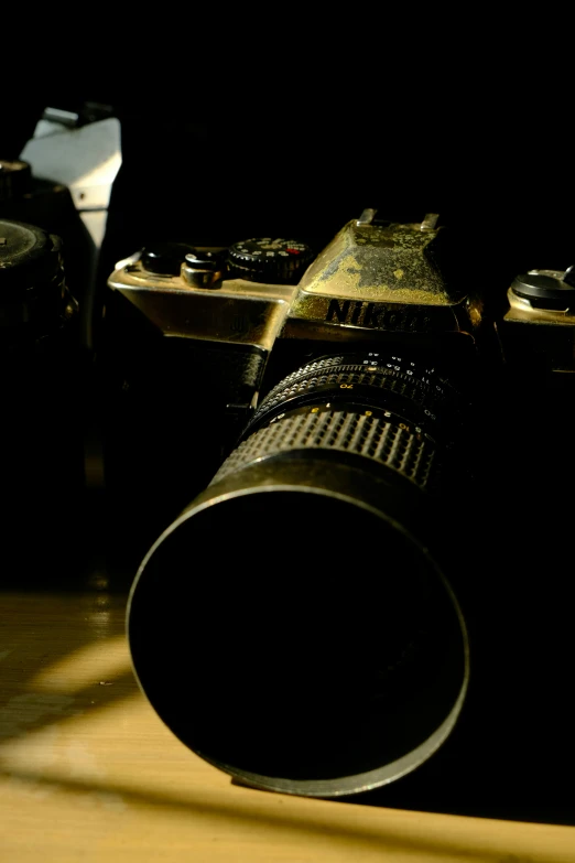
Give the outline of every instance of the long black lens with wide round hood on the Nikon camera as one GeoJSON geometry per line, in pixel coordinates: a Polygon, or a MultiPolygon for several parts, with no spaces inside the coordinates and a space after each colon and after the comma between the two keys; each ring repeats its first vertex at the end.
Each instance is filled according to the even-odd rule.
{"type": "Polygon", "coordinates": [[[467,634],[431,540],[459,408],[428,362],[377,353],[317,359],[262,401],[130,598],[140,683],[192,749],[327,797],[446,740],[467,634]]]}

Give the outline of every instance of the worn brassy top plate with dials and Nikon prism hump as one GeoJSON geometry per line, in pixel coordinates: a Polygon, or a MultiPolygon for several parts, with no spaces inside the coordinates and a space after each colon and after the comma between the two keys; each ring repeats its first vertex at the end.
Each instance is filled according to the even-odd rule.
{"type": "Polygon", "coordinates": [[[365,211],[315,259],[294,240],[229,249],[163,244],[121,261],[108,283],[164,336],[206,349],[208,343],[230,353],[253,349],[265,359],[260,371],[269,357],[276,362],[279,346],[295,341],[319,352],[382,339],[436,349],[458,334],[456,349],[464,342],[469,348],[485,333],[486,298],[469,274],[457,278],[463,250],[444,248],[436,218],[379,223],[365,211]]]}

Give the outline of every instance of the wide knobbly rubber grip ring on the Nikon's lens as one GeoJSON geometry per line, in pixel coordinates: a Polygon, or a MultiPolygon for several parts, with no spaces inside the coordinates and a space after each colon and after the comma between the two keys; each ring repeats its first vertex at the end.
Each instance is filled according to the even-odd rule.
{"type": "Polygon", "coordinates": [[[366,413],[317,407],[288,412],[245,440],[224,462],[211,484],[285,451],[335,450],[384,464],[420,488],[434,492],[440,463],[433,441],[415,428],[400,424],[397,418],[366,413]]]}

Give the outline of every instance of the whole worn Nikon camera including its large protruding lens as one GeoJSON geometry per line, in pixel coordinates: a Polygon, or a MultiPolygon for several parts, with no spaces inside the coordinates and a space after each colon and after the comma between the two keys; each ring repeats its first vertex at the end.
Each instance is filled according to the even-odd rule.
{"type": "Polygon", "coordinates": [[[140,546],[163,530],[130,595],[134,670],[247,785],[388,785],[462,712],[490,423],[525,363],[569,377],[575,332],[571,270],[508,293],[469,268],[468,239],[366,209],[318,255],[162,244],[109,279],[115,518],[140,546]]]}

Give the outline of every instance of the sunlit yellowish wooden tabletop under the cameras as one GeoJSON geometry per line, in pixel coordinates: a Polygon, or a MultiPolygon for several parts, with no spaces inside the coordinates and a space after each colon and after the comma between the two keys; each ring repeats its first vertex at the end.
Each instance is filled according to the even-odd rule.
{"type": "Polygon", "coordinates": [[[0,861],[575,861],[575,829],[257,791],[133,679],[126,594],[0,594],[0,861]]]}

